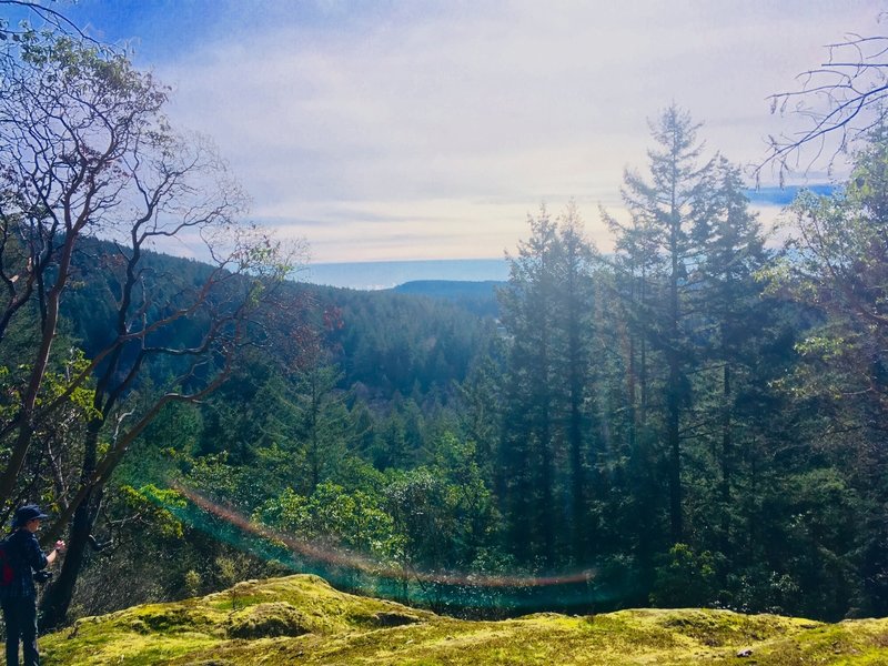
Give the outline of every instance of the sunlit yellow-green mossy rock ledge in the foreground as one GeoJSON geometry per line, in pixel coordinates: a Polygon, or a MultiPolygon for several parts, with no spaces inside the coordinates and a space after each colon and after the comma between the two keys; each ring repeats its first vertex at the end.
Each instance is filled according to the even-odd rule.
{"type": "Polygon", "coordinates": [[[41,639],[46,664],[885,664],[888,619],[836,625],[644,609],[466,622],[337,592],[316,576],[87,617],[41,639]],[[744,655],[744,656],[740,656],[744,655]]]}

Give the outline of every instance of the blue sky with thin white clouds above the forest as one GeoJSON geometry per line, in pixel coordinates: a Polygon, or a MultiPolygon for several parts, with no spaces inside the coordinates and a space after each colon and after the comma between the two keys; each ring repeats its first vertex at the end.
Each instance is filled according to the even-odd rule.
{"type": "MultiPolygon", "coordinates": [[[[60,0],[173,89],[176,127],[206,134],[250,216],[305,239],[315,262],[501,258],[541,204],[625,216],[648,120],[704,122],[706,154],[760,161],[793,131],[768,95],[886,2],[622,0],[60,0]]],[[[2,10],[0,10],[2,11],[2,10]]],[[[820,168],[808,182],[826,182],[820,168]]],[[[763,221],[765,174],[756,199],[763,221]]],[[[785,199],[779,192],[775,202],[785,199]]]]}

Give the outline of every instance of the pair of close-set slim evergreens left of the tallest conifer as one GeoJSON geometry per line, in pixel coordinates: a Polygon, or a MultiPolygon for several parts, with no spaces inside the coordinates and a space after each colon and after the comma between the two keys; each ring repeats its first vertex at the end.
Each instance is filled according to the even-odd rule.
{"type": "Polygon", "coordinates": [[[519,561],[552,566],[569,543],[588,555],[588,470],[597,464],[593,250],[575,206],[541,210],[500,292],[506,329],[503,428],[495,483],[519,561]],[[564,444],[562,444],[564,442],[564,444]],[[562,446],[566,464],[559,464],[562,446]],[[566,512],[563,506],[569,507],[566,512]]]}

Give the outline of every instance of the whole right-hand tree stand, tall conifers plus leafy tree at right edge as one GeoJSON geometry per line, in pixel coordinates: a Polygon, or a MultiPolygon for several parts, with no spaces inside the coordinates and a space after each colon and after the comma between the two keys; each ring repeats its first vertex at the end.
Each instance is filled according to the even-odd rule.
{"type": "Polygon", "coordinates": [[[596,256],[573,208],[512,260],[492,480],[508,551],[632,603],[882,615],[884,133],[767,251],[739,170],[670,108],[596,256]]]}

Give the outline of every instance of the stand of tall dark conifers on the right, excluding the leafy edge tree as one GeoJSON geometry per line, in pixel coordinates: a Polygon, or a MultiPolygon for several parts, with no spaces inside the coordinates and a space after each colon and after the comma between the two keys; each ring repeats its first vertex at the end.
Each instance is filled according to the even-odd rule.
{"type": "MultiPolygon", "coordinates": [[[[702,162],[696,130],[676,108],[658,119],[648,171],[625,175],[629,219],[605,218],[612,255],[595,255],[568,208],[532,219],[512,261],[495,483],[514,552],[629,569],[636,604],[845,613],[849,582],[800,562],[844,557],[840,535],[788,538],[797,486],[816,492],[835,471],[777,385],[813,315],[769,293],[740,173],[702,162]]],[[[831,504],[813,506],[839,529],[831,504]]]]}

